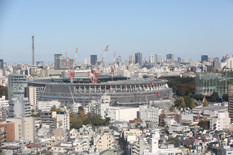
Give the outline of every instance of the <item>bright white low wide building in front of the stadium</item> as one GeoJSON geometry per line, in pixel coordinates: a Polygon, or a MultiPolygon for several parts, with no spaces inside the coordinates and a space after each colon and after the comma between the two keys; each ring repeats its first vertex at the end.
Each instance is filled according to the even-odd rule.
{"type": "Polygon", "coordinates": [[[129,121],[138,118],[139,108],[131,107],[108,107],[105,117],[110,117],[111,121],[129,121]]]}

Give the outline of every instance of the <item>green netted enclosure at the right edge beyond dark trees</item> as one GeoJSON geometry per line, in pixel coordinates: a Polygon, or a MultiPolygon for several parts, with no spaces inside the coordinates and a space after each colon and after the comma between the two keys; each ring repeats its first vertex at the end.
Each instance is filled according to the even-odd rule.
{"type": "Polygon", "coordinates": [[[228,85],[233,84],[233,72],[197,73],[195,84],[195,94],[211,95],[217,92],[222,96],[228,93],[228,85]]]}

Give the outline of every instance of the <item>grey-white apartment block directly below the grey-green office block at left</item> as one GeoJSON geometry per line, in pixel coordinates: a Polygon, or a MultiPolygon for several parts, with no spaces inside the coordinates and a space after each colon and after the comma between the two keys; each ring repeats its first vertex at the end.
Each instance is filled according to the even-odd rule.
{"type": "Polygon", "coordinates": [[[31,105],[27,98],[17,99],[13,98],[9,101],[9,118],[14,117],[30,117],[31,105]]]}

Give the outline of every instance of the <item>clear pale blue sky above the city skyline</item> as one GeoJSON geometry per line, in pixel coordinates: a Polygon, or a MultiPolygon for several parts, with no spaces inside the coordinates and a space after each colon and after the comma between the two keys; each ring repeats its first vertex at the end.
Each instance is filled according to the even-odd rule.
{"type": "Polygon", "coordinates": [[[174,54],[175,60],[200,60],[201,55],[233,55],[232,0],[0,0],[0,59],[53,62],[67,52],[84,62],[128,60],[142,52],[174,54]]]}

